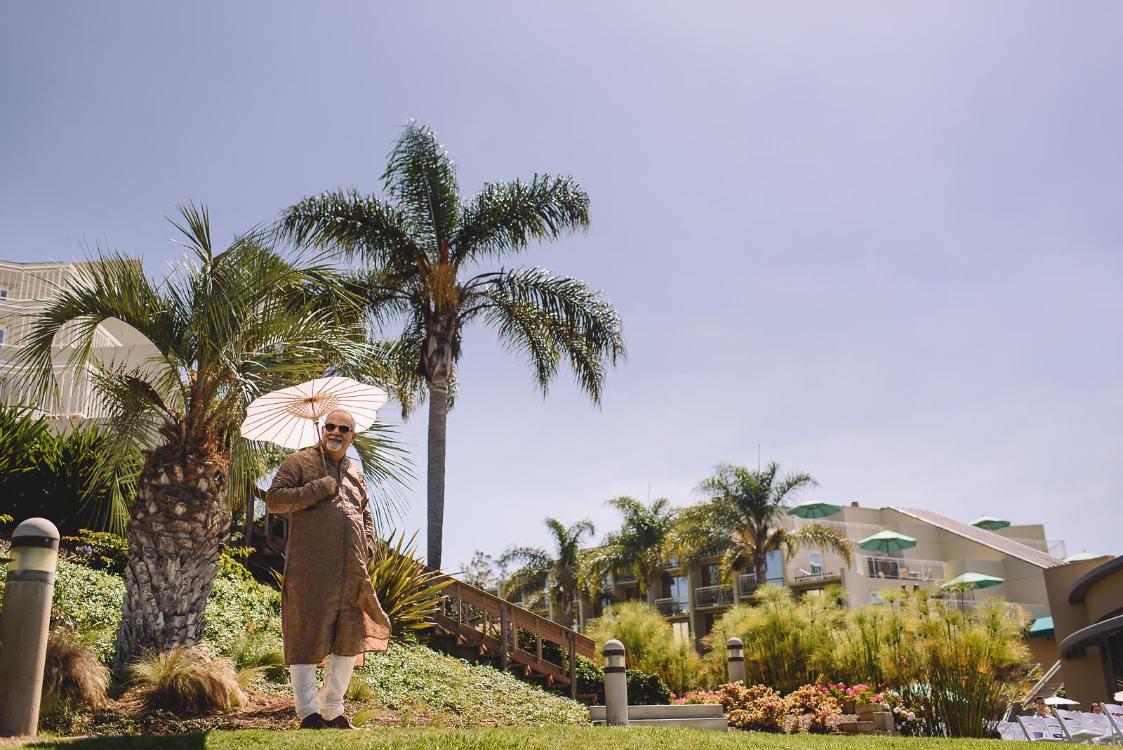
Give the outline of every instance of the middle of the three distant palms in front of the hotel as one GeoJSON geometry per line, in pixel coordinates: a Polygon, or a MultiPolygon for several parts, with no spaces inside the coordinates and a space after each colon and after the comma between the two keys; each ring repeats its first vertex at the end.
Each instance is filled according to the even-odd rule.
{"type": "Polygon", "coordinates": [[[609,574],[631,574],[639,579],[648,602],[654,603],[663,573],[676,556],[677,513],[666,497],[650,505],[634,497],[614,497],[605,505],[620,511],[623,523],[585,555],[582,587],[596,595],[609,574]]]}

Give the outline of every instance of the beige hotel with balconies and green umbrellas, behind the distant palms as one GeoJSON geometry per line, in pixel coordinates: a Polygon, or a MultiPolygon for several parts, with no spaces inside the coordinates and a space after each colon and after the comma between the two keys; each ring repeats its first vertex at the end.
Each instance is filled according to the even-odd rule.
{"type": "MultiPolygon", "coordinates": [[[[1034,618],[1033,632],[1041,634],[1029,640],[1034,656],[1042,664],[1057,660],[1043,574],[1065,565],[1065,542],[1048,540],[1040,524],[987,531],[932,511],[860,507],[857,503],[829,518],[807,521],[788,516],[785,523],[793,528],[819,523],[834,529],[851,541],[853,554],[847,564],[828,550],[805,548],[791,560],[779,551],[770,552],[767,583],[785,585],[802,596],[821,594],[825,586],[837,584],[846,592],[847,603],[858,606],[878,602],[877,592],[885,586],[930,587],[968,571],[994,576],[1003,583],[976,596],[1001,596],[1022,605],[1034,618]],[[915,538],[915,547],[893,554],[858,548],[859,540],[886,530],[915,538]]],[[[701,650],[702,639],[714,621],[733,604],[748,600],[759,583],[751,571],[742,571],[732,584],[723,582],[720,558],[714,555],[690,567],[668,567],[651,600],[676,631],[701,650]]],[[[640,597],[636,578],[618,577],[611,584],[612,600],[640,597]]],[[[578,610],[581,626],[599,616],[603,605],[583,601],[578,610]]]]}

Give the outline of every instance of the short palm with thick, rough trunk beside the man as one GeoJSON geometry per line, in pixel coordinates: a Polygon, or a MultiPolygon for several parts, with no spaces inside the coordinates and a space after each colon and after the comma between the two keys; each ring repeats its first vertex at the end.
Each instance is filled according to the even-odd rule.
{"type": "MultiPolygon", "coordinates": [[[[36,318],[20,358],[33,392],[51,397],[55,337],[64,327],[73,330],[69,364],[94,371],[121,447],[107,451],[106,460],[144,450],[125,529],[129,561],[118,669],[143,650],[202,638],[229,509],[240,504],[238,495],[273,452],[238,437],[246,404],[326,373],[362,377],[377,367],[362,317],[341,307],[345,291],[323,293],[334,284],[330,269],[285,260],[262,234],[216,253],[207,210],[192,204],[180,212],[182,223],[173,223],[190,251],[180,269],[153,282],[138,259],[117,253],[79,265],[73,282],[36,318]],[[322,299],[340,307],[326,309],[322,299]],[[355,322],[348,324],[348,317],[355,322]],[[133,368],[97,360],[93,336],[110,318],[135,328],[158,354],[133,368]]],[[[368,477],[392,474],[378,443],[365,443],[368,477]]]]}

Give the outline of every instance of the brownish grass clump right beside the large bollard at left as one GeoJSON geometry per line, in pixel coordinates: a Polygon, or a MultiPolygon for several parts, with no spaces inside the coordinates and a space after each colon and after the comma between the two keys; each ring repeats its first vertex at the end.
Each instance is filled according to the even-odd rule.
{"type": "Polygon", "coordinates": [[[66,626],[56,626],[47,635],[47,658],[43,670],[43,698],[39,711],[55,708],[95,711],[108,704],[109,668],[66,626]]]}

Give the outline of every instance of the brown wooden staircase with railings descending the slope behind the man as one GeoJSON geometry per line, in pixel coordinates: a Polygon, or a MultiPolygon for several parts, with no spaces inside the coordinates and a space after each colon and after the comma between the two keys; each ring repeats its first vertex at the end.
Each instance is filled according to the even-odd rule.
{"type": "MultiPolygon", "coordinates": [[[[284,570],[287,518],[267,513],[247,523],[243,534],[241,543],[255,548],[246,566],[258,580],[275,584],[273,571],[284,570]]],[[[445,580],[430,646],[577,697],[576,657],[596,659],[591,638],[450,576],[445,580]]]]}

